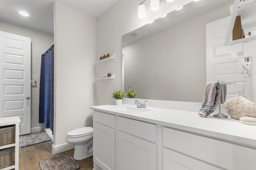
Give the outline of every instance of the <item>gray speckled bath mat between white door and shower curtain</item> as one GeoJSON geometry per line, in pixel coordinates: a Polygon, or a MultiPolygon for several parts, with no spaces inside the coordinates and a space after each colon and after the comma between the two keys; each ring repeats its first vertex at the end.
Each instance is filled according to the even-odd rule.
{"type": "Polygon", "coordinates": [[[46,132],[36,132],[30,133],[28,135],[20,136],[20,147],[27,147],[30,145],[35,145],[37,143],[42,143],[52,140],[46,132]]]}

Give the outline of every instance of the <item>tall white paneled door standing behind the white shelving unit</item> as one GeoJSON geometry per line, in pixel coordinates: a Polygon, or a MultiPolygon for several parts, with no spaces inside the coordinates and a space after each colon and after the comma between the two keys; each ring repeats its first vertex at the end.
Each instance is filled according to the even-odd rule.
{"type": "Polygon", "coordinates": [[[31,40],[0,31],[0,117],[19,116],[30,133],[31,40]]]}

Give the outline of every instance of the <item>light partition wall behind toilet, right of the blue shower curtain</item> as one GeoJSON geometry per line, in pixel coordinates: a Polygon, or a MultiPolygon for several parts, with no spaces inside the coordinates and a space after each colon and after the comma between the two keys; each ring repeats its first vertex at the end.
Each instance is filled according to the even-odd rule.
{"type": "Polygon", "coordinates": [[[54,3],[54,145],[68,131],[92,125],[95,19],[54,3]]]}

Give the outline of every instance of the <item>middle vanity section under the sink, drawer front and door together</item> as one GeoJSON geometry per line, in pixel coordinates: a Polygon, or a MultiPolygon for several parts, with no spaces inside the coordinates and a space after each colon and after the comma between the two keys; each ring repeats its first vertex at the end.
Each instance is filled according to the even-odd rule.
{"type": "Polygon", "coordinates": [[[117,169],[156,170],[156,125],[118,117],[117,169]]]}

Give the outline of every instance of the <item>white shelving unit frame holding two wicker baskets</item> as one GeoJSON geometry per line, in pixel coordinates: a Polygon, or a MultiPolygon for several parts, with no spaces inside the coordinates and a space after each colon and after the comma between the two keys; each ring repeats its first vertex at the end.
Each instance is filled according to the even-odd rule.
{"type": "MultiPolygon", "coordinates": [[[[1,170],[11,170],[11,169],[18,170],[19,169],[19,127],[20,127],[19,125],[20,125],[20,118],[18,116],[0,118],[0,127],[9,126],[9,125],[15,125],[15,143],[10,143],[8,145],[1,145],[0,150],[3,151],[4,149],[15,147],[15,164],[11,165],[11,166],[8,166],[8,167],[5,167],[5,168],[2,168],[1,170]]],[[[8,128],[8,127],[6,127],[6,128],[8,128]]],[[[4,128],[2,128],[2,129],[4,129],[4,128]]]]}

